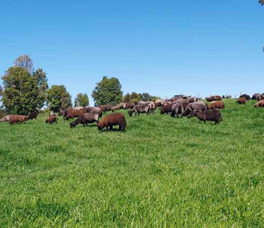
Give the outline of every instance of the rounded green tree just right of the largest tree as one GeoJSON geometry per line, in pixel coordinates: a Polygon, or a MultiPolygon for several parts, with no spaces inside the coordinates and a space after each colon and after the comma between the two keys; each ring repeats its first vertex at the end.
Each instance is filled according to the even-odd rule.
{"type": "Polygon", "coordinates": [[[71,95],[64,85],[52,85],[47,90],[47,106],[49,110],[58,112],[72,106],[71,95]]]}

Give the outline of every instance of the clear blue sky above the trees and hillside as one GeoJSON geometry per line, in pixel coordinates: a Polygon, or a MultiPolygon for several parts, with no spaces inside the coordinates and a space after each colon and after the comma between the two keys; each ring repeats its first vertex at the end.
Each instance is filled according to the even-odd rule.
{"type": "Polygon", "coordinates": [[[0,1],[0,75],[28,54],[91,105],[103,76],[124,94],[264,93],[263,46],[258,0],[0,1]]]}

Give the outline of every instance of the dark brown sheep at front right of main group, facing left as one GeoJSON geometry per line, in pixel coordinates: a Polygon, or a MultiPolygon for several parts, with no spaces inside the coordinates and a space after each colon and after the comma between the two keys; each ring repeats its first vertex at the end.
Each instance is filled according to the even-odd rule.
{"type": "Polygon", "coordinates": [[[198,111],[194,110],[192,113],[198,119],[204,121],[215,121],[215,124],[219,124],[222,121],[221,113],[218,109],[206,110],[206,111],[198,111]]]}

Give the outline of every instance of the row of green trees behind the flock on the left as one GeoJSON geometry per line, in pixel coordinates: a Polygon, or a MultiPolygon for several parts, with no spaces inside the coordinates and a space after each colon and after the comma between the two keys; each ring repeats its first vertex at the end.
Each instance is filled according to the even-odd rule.
{"type": "MultiPolygon", "coordinates": [[[[48,86],[46,73],[42,68],[34,69],[30,56],[22,55],[14,61],[14,66],[9,67],[4,75],[3,87],[0,85],[0,98],[2,107],[7,114],[28,114],[46,108],[54,112],[72,107],[72,97],[65,85],[48,86]]],[[[123,96],[122,85],[117,77],[103,76],[96,83],[92,91],[95,106],[104,104],[119,104],[121,102],[153,101],[158,97],[149,93],[132,92],[123,96]]],[[[74,99],[74,106],[88,106],[87,93],[78,93],[74,99]]]]}

